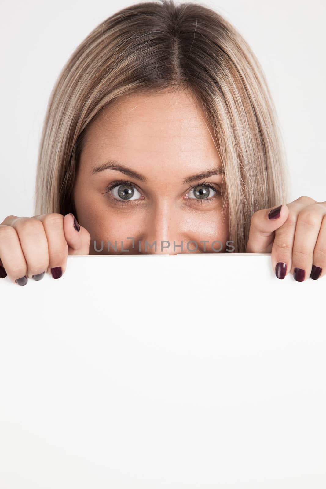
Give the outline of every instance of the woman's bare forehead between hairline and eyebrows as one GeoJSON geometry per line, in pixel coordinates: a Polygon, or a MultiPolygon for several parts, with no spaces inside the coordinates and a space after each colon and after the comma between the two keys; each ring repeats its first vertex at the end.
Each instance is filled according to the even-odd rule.
{"type": "Polygon", "coordinates": [[[111,157],[182,174],[219,162],[200,104],[184,90],[120,97],[87,128],[83,153],[92,165],[111,157]]]}

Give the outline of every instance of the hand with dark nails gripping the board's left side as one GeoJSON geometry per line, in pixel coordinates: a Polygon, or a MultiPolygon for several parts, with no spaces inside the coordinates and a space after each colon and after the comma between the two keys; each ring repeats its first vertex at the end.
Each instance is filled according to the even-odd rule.
{"type": "Polygon", "coordinates": [[[76,227],[72,214],[7,216],[0,224],[0,278],[19,285],[41,280],[44,272],[60,278],[68,255],[89,254],[90,234],[77,221],[76,227]]]}

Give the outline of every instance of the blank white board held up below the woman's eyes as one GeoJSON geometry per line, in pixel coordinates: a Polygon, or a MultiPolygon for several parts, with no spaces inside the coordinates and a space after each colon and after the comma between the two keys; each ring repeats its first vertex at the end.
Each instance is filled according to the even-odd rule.
{"type": "Polygon", "coordinates": [[[326,487],[326,278],[69,256],[0,280],[0,487],[326,487]]]}

